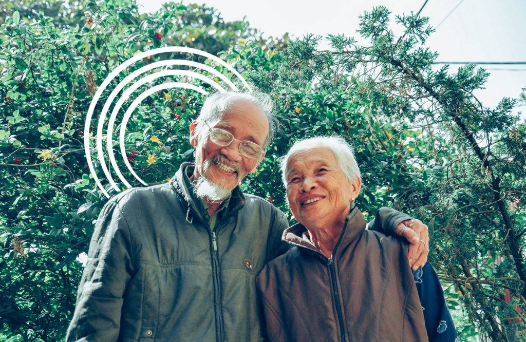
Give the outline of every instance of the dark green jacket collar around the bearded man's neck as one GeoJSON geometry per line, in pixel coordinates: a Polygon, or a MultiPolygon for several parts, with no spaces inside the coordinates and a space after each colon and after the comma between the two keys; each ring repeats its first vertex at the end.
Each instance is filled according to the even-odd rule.
{"type": "MultiPolygon", "coordinates": [[[[194,195],[192,193],[193,189],[187,186],[183,178],[185,175],[189,177],[191,174],[193,174],[194,168],[194,163],[181,164],[175,176],[170,179],[169,184],[174,187],[175,191],[180,195],[181,199],[183,199],[184,202],[188,205],[187,220],[191,219],[188,217],[190,214],[189,212],[191,211],[194,216],[197,215],[204,222],[208,222],[208,220],[205,220],[200,214],[200,204],[196,203],[196,200],[194,199],[194,195]]],[[[237,213],[245,205],[245,203],[245,196],[241,192],[239,186],[236,186],[234,190],[232,190],[232,194],[230,195],[227,212],[229,214],[237,213]]]]}

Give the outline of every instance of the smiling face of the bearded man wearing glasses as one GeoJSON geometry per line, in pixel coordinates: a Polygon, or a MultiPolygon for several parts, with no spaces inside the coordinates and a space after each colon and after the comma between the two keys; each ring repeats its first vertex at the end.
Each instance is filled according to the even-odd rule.
{"type": "MultiPolygon", "coordinates": [[[[195,134],[195,125],[190,126],[190,139],[195,134]]],[[[227,130],[240,141],[248,140],[259,146],[269,132],[268,119],[261,108],[250,102],[237,102],[223,115],[214,127],[227,130]]],[[[194,180],[206,177],[211,183],[232,190],[249,173],[256,170],[264,157],[253,159],[239,153],[239,142],[234,140],[228,146],[214,144],[210,139],[197,138],[196,168],[194,180]],[[202,141],[205,140],[205,141],[202,141]]]]}

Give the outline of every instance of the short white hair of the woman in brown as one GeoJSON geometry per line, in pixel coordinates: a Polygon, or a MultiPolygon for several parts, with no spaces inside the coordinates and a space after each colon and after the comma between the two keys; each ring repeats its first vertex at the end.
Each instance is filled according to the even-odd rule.
{"type": "Polygon", "coordinates": [[[285,187],[287,187],[287,163],[290,157],[312,148],[327,148],[331,150],[336,157],[338,166],[345,173],[349,182],[353,183],[356,177],[361,179],[360,168],[356,163],[352,146],[340,136],[319,136],[298,140],[292,145],[289,152],[281,157],[281,177],[285,187]]]}

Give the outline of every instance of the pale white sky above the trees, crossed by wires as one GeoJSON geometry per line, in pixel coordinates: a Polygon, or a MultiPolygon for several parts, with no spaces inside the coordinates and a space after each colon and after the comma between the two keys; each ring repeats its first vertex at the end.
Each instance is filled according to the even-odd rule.
{"type": "MultiPolygon", "coordinates": [[[[137,0],[139,11],[152,12],[165,0],[137,0]]],[[[394,14],[417,12],[421,0],[324,0],[324,1],[240,1],[196,0],[217,8],[226,21],[246,17],[252,27],[266,35],[292,37],[306,33],[342,33],[357,37],[358,15],[373,6],[384,5],[394,14]]],[[[429,0],[421,15],[430,17],[436,27],[460,0],[429,0]]],[[[190,2],[184,1],[184,4],[190,2]]],[[[428,46],[439,53],[439,61],[526,61],[526,1],[463,0],[458,8],[428,39],[428,46]]],[[[391,20],[394,26],[394,17],[391,20]]],[[[400,31],[395,30],[395,33],[400,31]]],[[[455,70],[458,66],[451,66],[455,70]]],[[[495,106],[504,97],[517,98],[526,87],[526,65],[485,65],[491,75],[486,89],[476,95],[486,106],[495,106]],[[502,71],[497,69],[520,69],[502,71]]],[[[526,107],[516,107],[526,118],[526,107]]]]}

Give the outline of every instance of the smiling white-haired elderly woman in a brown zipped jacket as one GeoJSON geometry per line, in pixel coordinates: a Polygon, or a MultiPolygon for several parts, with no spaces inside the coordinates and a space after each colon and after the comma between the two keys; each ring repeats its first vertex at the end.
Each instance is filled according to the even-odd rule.
{"type": "Polygon", "coordinates": [[[267,339],[454,341],[433,268],[412,273],[405,242],[366,230],[353,204],[361,178],[351,146],[339,137],[310,138],[281,163],[299,223],[282,237],[295,247],[257,278],[267,339]]]}

